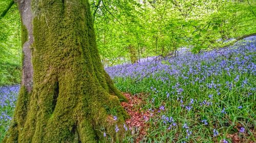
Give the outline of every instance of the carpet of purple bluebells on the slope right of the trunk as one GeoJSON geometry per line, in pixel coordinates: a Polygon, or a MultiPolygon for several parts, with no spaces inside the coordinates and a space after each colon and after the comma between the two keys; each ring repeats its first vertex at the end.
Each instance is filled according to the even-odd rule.
{"type": "Polygon", "coordinates": [[[253,115],[250,103],[255,102],[256,95],[255,53],[255,44],[245,43],[239,47],[199,54],[187,52],[179,58],[118,65],[105,70],[121,91],[149,93],[145,108],[157,112],[149,120],[153,127],[148,133],[155,134],[166,128],[165,134],[158,134],[161,140],[176,135],[183,128],[179,139],[188,141],[202,132],[215,137],[221,127],[232,128],[227,123],[236,118],[233,113],[244,118],[253,115]],[[186,124],[182,124],[184,121],[186,124]]]}

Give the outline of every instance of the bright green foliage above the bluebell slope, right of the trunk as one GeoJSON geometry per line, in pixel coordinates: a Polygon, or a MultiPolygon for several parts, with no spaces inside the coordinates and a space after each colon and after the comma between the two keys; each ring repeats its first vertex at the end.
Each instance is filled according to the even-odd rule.
{"type": "Polygon", "coordinates": [[[98,1],[97,44],[106,65],[130,62],[129,45],[138,58],[170,55],[180,47],[194,52],[228,45],[227,40],[255,33],[255,1],[98,1]]]}

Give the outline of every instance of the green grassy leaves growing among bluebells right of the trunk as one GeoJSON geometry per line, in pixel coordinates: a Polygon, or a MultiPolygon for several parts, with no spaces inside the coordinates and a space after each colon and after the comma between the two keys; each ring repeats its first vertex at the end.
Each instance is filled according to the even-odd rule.
{"type": "MultiPolygon", "coordinates": [[[[197,71],[199,74],[189,74],[185,78],[181,75],[187,75],[190,67],[196,69],[198,63],[195,65],[184,63],[178,68],[181,71],[180,75],[167,74],[165,71],[168,69],[165,68],[165,71],[156,72],[155,75],[140,81],[137,80],[138,78],[130,77],[115,77],[114,81],[122,92],[148,94],[144,97],[146,104],[142,108],[154,110],[152,112],[154,116],[148,121],[150,128],[144,137],[146,142],[222,142],[223,139],[232,142],[229,135],[234,133],[238,134],[242,142],[255,142],[255,71],[241,73],[239,70],[241,65],[232,62],[236,57],[246,59],[244,55],[236,55],[230,60],[225,59],[230,64],[226,67],[233,66],[233,69],[227,72],[223,67],[220,69],[221,74],[218,75],[206,76],[210,67],[220,64],[218,61],[222,61],[223,57],[217,57],[212,62],[201,61],[201,67],[205,69],[202,68],[197,71]],[[239,79],[236,80],[238,75],[239,79]],[[162,81],[161,78],[166,80],[162,81]],[[204,80],[199,82],[196,81],[197,78],[204,80]],[[209,88],[211,83],[217,84],[217,87],[214,88],[212,85],[212,88],[209,88]],[[179,89],[182,89],[182,92],[179,92],[179,89]],[[191,100],[194,100],[193,104],[190,103],[191,100]],[[159,109],[161,106],[164,106],[164,110],[159,109]],[[192,108],[188,110],[186,106],[192,108]],[[223,108],[225,110],[222,112],[223,108]],[[170,123],[166,124],[162,119],[165,117],[172,117],[176,126],[169,128],[170,123]],[[202,123],[202,120],[206,120],[207,125],[202,123]],[[184,124],[187,124],[188,131],[183,128],[184,124]],[[241,127],[245,128],[244,132],[240,132],[241,127]],[[214,129],[218,131],[216,136],[214,129]],[[190,131],[191,134],[188,135],[190,131]]],[[[247,64],[255,63],[255,55],[247,62],[247,64]]]]}

